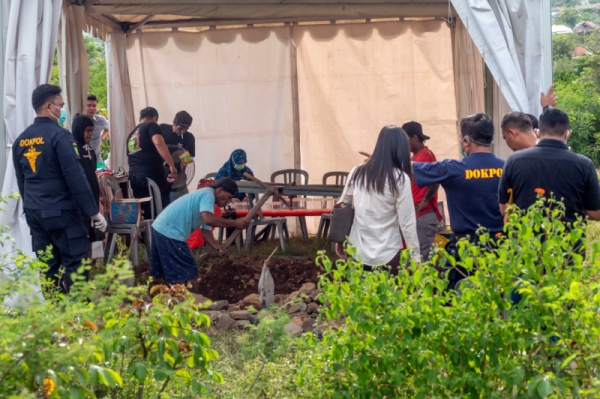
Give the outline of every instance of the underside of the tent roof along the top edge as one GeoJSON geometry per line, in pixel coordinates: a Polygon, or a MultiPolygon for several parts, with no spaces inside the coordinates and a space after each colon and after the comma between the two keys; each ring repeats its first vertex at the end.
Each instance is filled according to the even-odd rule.
{"type": "MultiPolygon", "coordinates": [[[[76,0],[68,0],[76,4],[76,0]]],[[[79,0],[80,2],[80,0],[79,0]]],[[[447,17],[449,0],[88,0],[86,14],[112,30],[322,21],[356,18],[447,17]],[[144,20],[146,19],[146,20],[144,20]]],[[[95,25],[97,28],[97,25],[95,25]]]]}

